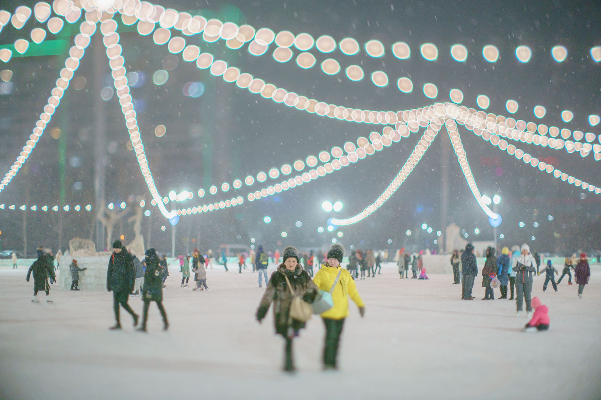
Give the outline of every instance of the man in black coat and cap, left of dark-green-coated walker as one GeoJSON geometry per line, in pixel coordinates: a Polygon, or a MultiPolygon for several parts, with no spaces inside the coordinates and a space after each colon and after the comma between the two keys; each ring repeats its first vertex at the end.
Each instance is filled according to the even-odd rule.
{"type": "Polygon", "coordinates": [[[119,305],[129,312],[133,318],[133,326],[138,324],[138,315],[127,304],[129,294],[133,291],[136,280],[136,268],[133,266],[132,255],[121,245],[120,240],[112,244],[113,253],[109,258],[109,266],[106,271],[106,290],[113,292],[113,311],[115,312],[115,325],[110,329],[121,329],[119,319],[119,305]]]}

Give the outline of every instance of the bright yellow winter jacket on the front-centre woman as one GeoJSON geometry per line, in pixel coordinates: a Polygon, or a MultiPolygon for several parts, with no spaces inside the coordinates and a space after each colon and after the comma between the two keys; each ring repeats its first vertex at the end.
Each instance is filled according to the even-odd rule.
{"type": "MultiPolygon", "coordinates": [[[[330,291],[340,268],[342,267],[334,268],[329,266],[327,263],[323,264],[321,269],[315,274],[313,282],[315,282],[317,287],[321,290],[330,291]]],[[[353,280],[352,276],[350,276],[350,272],[346,269],[342,269],[340,279],[338,280],[338,283],[332,292],[334,307],[326,312],[323,312],[322,317],[332,318],[334,320],[346,318],[349,315],[349,296],[358,307],[365,306],[363,300],[361,300],[361,296],[359,296],[357,288],[355,287],[355,281],[353,280]]]]}

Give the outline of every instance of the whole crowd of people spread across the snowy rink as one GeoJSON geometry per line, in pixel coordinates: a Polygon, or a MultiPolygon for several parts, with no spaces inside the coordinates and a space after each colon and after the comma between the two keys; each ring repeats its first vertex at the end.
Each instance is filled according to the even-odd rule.
{"type": "MultiPolygon", "coordinates": [[[[398,273],[401,279],[409,279],[409,270],[412,279],[428,279],[424,267],[424,255],[429,251],[419,251],[411,254],[404,248],[397,252],[396,260],[398,273]],[[419,271],[419,276],[418,276],[419,271]]],[[[57,254],[58,255],[58,254],[57,254]]],[[[46,293],[46,301],[50,299],[50,284],[56,282],[55,262],[57,255],[50,249],[42,246],[37,249],[37,259],[29,267],[26,280],[31,276],[34,279],[34,296],[32,302],[40,302],[37,294],[39,291],[46,293]]],[[[227,257],[225,251],[221,252],[221,263],[227,271],[227,257]]],[[[543,305],[538,297],[532,297],[532,284],[535,275],[545,274],[542,291],[546,291],[551,283],[555,291],[565,275],[568,275],[568,285],[572,285],[572,271],[578,284],[578,297],[582,299],[585,285],[590,278],[590,267],[586,254],[579,257],[576,254],[564,260],[562,274],[557,282],[555,275],[558,269],[551,260],[547,260],[541,269],[541,258],[537,253],[531,254],[528,244],[512,246],[501,249],[501,255],[496,257],[495,249],[489,246],[485,251],[486,260],[478,271],[478,263],[472,243],[465,249],[455,250],[451,254],[450,264],[453,269],[453,284],[461,285],[461,298],[474,300],[472,291],[475,278],[482,276],[481,286],[484,288],[482,300],[494,300],[494,289],[499,288],[499,299],[516,301],[516,312],[522,315],[525,305],[526,313],[531,319],[525,325],[526,332],[546,330],[549,328],[548,307],[543,305]],[[508,298],[508,294],[510,297],[508,298]]],[[[362,252],[354,249],[350,252],[346,269],[342,267],[344,248],[341,245],[332,245],[324,254],[314,251],[299,254],[293,246],[288,246],[282,254],[279,251],[266,252],[263,246],[258,245],[257,251],[249,254],[236,254],[239,273],[246,266],[246,259],[250,257],[252,272],[258,272],[259,287],[266,287],[256,312],[259,322],[266,316],[268,309],[273,305],[275,332],[284,338],[284,371],[294,371],[293,339],[297,338],[301,329],[311,316],[311,309],[316,303],[325,304],[326,308],[319,309],[320,317],[325,327],[325,345],[323,351],[323,366],[325,369],[337,368],[338,345],[343,331],[344,319],[349,315],[349,297],[356,303],[361,316],[365,314],[365,305],[357,291],[355,280],[374,278],[381,273],[383,254],[371,249],[362,252]],[[281,258],[280,258],[281,256],[281,258]],[[268,277],[267,267],[269,261],[276,264],[276,270],[268,277]],[[317,266],[317,271],[314,267],[317,266]]],[[[212,252],[202,254],[194,249],[192,254],[178,255],[174,258],[180,265],[182,281],[180,287],[189,286],[189,280],[194,273],[196,282],[194,291],[209,290],[207,285],[207,267],[210,265],[212,252]]],[[[388,254],[386,254],[388,258],[388,254]]],[[[13,260],[16,267],[16,261],[13,260]]],[[[73,259],[69,265],[72,278],[70,290],[79,290],[79,272],[87,268],[79,267],[78,261],[73,259]]],[[[141,332],[147,331],[148,309],[151,302],[155,302],[163,320],[163,330],[169,327],[165,307],[163,306],[163,288],[169,276],[168,258],[165,254],[158,255],[154,248],[145,251],[144,260],[140,261],[136,255],[127,251],[120,240],[112,243],[112,254],[109,257],[106,274],[106,289],[112,291],[115,324],[111,330],[121,329],[120,310],[123,308],[133,320],[133,326],[141,332]],[[141,322],[140,315],[130,307],[129,296],[142,297],[141,322]],[[139,326],[138,326],[139,324],[139,326]]]]}

